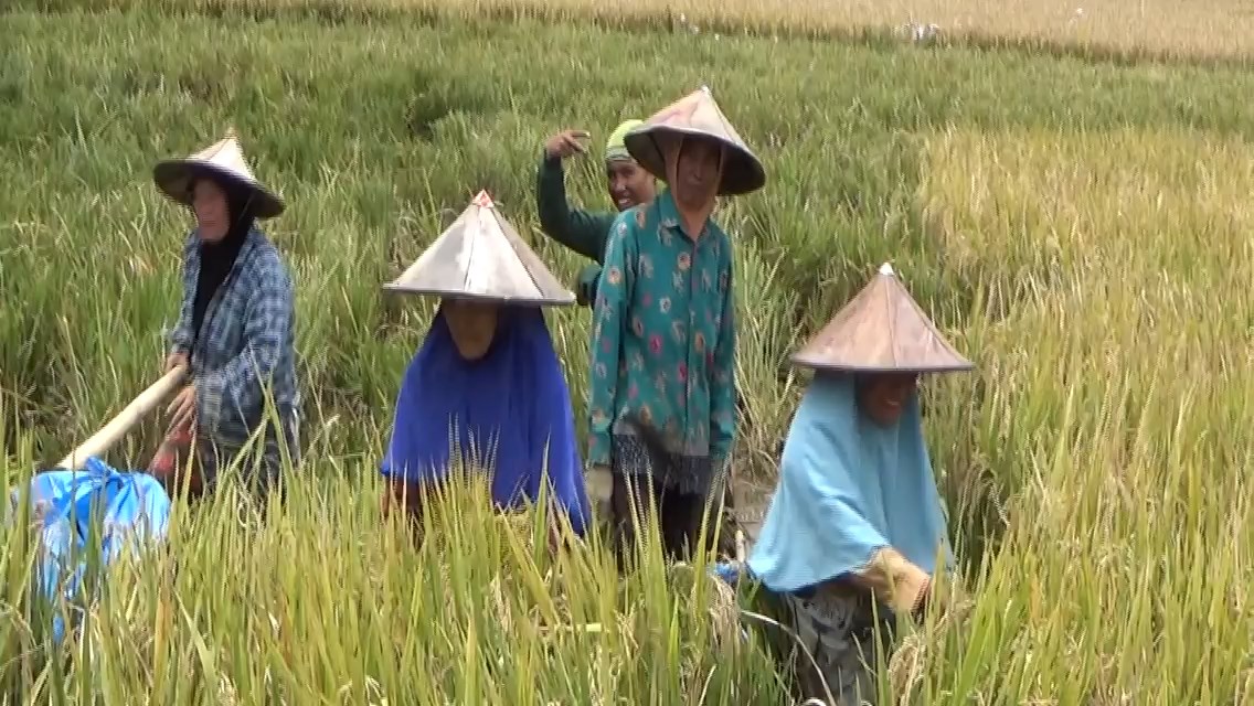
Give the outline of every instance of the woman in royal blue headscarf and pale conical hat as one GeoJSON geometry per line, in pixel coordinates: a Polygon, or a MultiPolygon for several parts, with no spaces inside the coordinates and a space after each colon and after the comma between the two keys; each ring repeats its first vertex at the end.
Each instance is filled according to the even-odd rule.
{"type": "Polygon", "coordinates": [[[571,393],[539,310],[574,295],[483,192],[387,288],[440,305],[396,398],[385,515],[416,515],[423,493],[460,465],[489,474],[502,509],[538,502],[547,478],[549,500],[582,535],[589,508],[571,393]]]}

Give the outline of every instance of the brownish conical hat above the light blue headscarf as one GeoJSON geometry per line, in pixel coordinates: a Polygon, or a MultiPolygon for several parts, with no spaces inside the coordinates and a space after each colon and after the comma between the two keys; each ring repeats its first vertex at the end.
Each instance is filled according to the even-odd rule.
{"type": "Polygon", "coordinates": [[[974,365],[958,354],[885,263],[793,362],[854,372],[953,372],[974,365]]]}

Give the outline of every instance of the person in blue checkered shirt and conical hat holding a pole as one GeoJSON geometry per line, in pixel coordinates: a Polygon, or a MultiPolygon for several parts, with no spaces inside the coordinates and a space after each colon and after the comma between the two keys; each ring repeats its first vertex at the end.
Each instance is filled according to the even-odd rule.
{"type": "Polygon", "coordinates": [[[283,450],[292,465],[300,456],[295,293],[256,221],[282,213],[283,202],[253,177],[233,129],[202,152],[158,163],[153,178],[192,211],[196,227],[183,247],[183,297],[166,361],[167,370],[188,365],[191,380],[167,410],[171,426],[149,470],[171,485],[194,438],[188,485],[199,494],[265,425],[260,461],[240,458],[240,470],[255,492],[281,493],[283,450]]]}

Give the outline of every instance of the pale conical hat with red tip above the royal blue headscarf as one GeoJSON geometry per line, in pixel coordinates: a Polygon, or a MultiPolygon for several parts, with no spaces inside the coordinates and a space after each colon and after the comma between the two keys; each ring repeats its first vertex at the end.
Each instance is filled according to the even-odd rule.
{"type": "Polygon", "coordinates": [[[574,303],[574,292],[544,267],[483,191],[384,290],[534,306],[574,303]]]}

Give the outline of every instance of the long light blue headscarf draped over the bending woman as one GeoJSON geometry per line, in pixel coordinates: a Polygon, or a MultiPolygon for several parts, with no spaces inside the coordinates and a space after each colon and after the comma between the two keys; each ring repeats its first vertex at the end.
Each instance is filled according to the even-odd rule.
{"type": "Polygon", "coordinates": [[[942,544],[948,566],[918,395],[885,428],[859,413],[853,376],[818,372],[789,428],[750,571],[771,591],[805,592],[893,547],[930,576],[942,544]]]}

